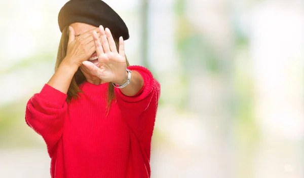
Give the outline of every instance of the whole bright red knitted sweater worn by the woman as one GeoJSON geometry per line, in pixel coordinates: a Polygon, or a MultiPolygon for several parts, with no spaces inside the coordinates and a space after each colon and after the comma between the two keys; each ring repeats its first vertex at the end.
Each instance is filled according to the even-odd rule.
{"type": "Polygon", "coordinates": [[[144,67],[130,66],[143,77],[135,96],[115,88],[116,100],[106,116],[109,83],[80,85],[80,98],[45,85],[26,106],[26,123],[39,133],[51,157],[56,178],[150,177],[150,145],[160,84],[144,67]]]}

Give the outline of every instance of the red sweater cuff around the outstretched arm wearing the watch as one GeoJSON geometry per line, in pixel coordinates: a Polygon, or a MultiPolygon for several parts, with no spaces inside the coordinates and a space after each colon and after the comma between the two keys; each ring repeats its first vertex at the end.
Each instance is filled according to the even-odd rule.
{"type": "Polygon", "coordinates": [[[153,75],[151,74],[151,72],[145,67],[142,67],[139,65],[132,65],[132,66],[129,66],[128,69],[135,70],[136,72],[138,72],[141,75],[141,77],[143,78],[143,87],[134,96],[124,95],[123,92],[119,88],[115,88],[114,91],[118,98],[120,98],[126,102],[137,102],[137,101],[140,101],[140,100],[146,98],[151,93],[151,91],[154,88],[154,78],[153,78],[153,75]]]}

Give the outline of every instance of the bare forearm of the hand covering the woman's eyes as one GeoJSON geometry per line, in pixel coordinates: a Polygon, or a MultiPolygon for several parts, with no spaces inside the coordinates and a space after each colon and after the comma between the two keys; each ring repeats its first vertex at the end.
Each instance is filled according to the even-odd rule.
{"type": "Polygon", "coordinates": [[[62,93],[67,94],[69,85],[72,81],[74,74],[77,72],[77,69],[78,66],[68,64],[63,59],[55,74],[49,80],[48,85],[61,91],[62,93]]]}

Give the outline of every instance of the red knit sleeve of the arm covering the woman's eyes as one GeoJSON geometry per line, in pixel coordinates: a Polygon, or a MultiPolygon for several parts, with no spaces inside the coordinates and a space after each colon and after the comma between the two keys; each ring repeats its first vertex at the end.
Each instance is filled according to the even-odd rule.
{"type": "Polygon", "coordinates": [[[63,121],[67,116],[66,97],[65,93],[45,84],[26,105],[26,124],[44,138],[50,157],[62,136],[63,121]]]}

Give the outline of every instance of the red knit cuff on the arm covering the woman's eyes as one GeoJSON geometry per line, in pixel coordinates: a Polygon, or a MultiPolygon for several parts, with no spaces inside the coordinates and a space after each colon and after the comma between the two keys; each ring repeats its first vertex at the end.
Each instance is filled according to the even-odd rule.
{"type": "Polygon", "coordinates": [[[67,94],[62,93],[61,91],[51,87],[48,84],[45,84],[40,92],[41,97],[43,97],[46,101],[53,103],[55,105],[63,105],[67,94]]]}

